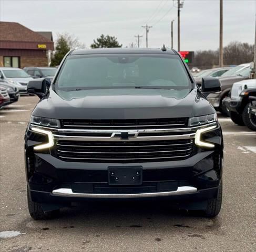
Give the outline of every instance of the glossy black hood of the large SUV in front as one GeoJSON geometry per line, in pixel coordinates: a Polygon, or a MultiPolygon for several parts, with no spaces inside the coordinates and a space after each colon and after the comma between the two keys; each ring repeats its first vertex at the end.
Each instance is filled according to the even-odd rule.
{"type": "Polygon", "coordinates": [[[215,112],[197,89],[189,93],[177,91],[176,98],[173,92],[164,89],[56,92],[50,89],[32,114],[56,119],[149,119],[195,117],[215,112]]]}

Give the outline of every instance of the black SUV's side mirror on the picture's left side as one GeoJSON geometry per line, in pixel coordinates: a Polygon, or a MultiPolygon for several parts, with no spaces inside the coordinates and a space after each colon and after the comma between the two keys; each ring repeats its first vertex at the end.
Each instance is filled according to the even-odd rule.
{"type": "Polygon", "coordinates": [[[28,93],[37,95],[39,98],[43,98],[50,87],[50,83],[44,79],[30,80],[27,85],[28,93]]]}

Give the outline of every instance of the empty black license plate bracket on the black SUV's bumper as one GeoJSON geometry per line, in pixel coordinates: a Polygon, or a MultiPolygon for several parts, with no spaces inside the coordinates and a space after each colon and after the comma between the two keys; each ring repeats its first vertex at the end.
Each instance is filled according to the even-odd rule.
{"type": "Polygon", "coordinates": [[[141,185],[141,166],[112,166],[108,167],[109,185],[141,185]]]}

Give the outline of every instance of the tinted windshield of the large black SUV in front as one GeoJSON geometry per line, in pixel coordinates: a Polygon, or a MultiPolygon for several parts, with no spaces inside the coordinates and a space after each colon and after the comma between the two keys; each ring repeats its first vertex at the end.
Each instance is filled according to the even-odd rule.
{"type": "Polygon", "coordinates": [[[56,88],[191,89],[191,81],[177,55],[105,54],[68,56],[56,88]]]}

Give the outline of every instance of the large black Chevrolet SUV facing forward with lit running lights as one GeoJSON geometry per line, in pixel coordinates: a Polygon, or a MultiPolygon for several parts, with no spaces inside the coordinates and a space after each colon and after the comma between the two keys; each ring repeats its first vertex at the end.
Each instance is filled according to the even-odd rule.
{"type": "Polygon", "coordinates": [[[51,85],[28,84],[41,98],[25,134],[30,215],[149,197],[218,215],[223,140],[206,96],[219,90],[216,78],[200,90],[175,50],[70,51],[51,85]]]}

